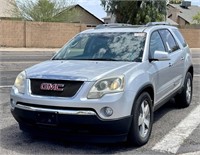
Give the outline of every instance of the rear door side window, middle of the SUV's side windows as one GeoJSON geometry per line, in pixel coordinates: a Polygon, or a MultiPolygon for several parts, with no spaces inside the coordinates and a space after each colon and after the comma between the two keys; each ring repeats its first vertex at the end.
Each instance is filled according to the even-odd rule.
{"type": "Polygon", "coordinates": [[[172,34],[168,30],[164,30],[164,29],[159,30],[159,33],[160,33],[162,40],[165,44],[165,47],[166,47],[166,49],[169,53],[180,49],[180,47],[176,43],[174,37],[172,36],[172,34]]]}

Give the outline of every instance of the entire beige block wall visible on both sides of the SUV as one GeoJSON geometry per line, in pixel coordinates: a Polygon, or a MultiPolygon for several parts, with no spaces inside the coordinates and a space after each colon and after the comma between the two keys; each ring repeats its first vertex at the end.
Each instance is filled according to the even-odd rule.
{"type": "MultiPolygon", "coordinates": [[[[77,33],[88,29],[85,24],[0,21],[0,47],[58,47],[77,33]]],[[[191,48],[200,48],[200,28],[180,29],[191,48]]]]}

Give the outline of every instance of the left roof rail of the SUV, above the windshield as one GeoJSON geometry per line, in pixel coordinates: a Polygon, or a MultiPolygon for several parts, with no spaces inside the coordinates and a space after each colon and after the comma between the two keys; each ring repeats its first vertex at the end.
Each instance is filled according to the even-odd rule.
{"type": "Polygon", "coordinates": [[[125,28],[125,27],[141,27],[142,25],[131,25],[125,23],[112,23],[112,24],[100,24],[97,25],[95,29],[104,29],[104,28],[125,28]]]}

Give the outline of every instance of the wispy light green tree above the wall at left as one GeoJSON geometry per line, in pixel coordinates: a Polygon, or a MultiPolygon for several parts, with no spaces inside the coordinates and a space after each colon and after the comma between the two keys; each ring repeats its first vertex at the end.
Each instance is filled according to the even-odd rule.
{"type": "Polygon", "coordinates": [[[10,3],[14,6],[12,13],[23,20],[58,22],[74,14],[70,9],[66,11],[73,4],[72,0],[16,0],[16,3],[10,3]],[[57,16],[63,11],[65,16],[57,16]]]}

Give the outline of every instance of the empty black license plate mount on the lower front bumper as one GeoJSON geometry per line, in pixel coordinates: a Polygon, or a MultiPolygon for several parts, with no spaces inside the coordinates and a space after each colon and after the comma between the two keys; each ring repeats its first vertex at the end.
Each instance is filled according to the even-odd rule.
{"type": "Polygon", "coordinates": [[[36,113],[36,124],[41,125],[57,125],[57,114],[56,113],[46,113],[46,112],[37,112],[36,113]]]}

